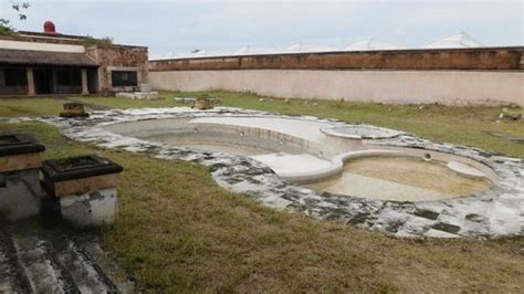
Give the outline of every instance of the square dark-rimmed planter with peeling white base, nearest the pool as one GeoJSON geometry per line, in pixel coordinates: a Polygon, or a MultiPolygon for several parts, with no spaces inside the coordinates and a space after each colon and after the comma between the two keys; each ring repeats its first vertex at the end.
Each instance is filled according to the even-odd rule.
{"type": "Polygon", "coordinates": [[[45,188],[57,199],[62,218],[75,227],[113,223],[118,212],[122,166],[96,155],[45,160],[45,188]]]}

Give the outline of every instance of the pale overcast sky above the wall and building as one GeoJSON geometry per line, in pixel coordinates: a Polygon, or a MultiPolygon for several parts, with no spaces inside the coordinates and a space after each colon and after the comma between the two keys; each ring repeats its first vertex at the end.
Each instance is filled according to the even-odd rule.
{"type": "Polygon", "coordinates": [[[377,38],[422,46],[464,31],[486,45],[522,45],[523,1],[120,1],[29,0],[28,20],[18,21],[10,0],[0,18],[19,30],[112,36],[149,46],[151,56],[195,49],[234,52],[244,45],[283,49],[292,43],[343,49],[377,38]]]}

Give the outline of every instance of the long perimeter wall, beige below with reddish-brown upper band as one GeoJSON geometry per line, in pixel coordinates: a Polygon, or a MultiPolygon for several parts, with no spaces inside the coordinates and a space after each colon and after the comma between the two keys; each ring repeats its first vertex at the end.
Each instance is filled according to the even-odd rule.
{"type": "Polygon", "coordinates": [[[149,69],[155,90],[524,106],[523,48],[198,57],[151,61],[149,69]]]}

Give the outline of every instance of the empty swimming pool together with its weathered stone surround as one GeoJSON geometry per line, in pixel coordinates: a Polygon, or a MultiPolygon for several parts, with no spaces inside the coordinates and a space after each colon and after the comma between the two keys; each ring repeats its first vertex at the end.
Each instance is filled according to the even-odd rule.
{"type": "Polygon", "coordinates": [[[369,125],[230,107],[44,120],[74,140],[203,165],[240,197],[321,220],[398,237],[522,234],[520,158],[369,125]]]}

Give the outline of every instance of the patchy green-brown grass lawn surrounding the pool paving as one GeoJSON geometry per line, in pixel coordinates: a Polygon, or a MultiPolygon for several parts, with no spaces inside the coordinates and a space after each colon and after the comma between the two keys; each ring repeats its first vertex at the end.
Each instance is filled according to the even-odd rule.
{"type": "MultiPolygon", "coordinates": [[[[175,105],[165,99],[78,98],[111,107],[175,105]],[[165,104],[165,105],[164,105],[165,104]]],[[[214,92],[221,105],[336,117],[524,157],[522,145],[484,132],[523,136],[522,122],[495,123],[500,107],[390,106],[285,102],[214,92]]],[[[52,114],[54,99],[0,99],[0,116],[52,114]],[[13,106],[14,105],[14,106],[13,106]],[[18,105],[21,107],[17,113],[18,105]],[[13,108],[14,107],[14,108],[13,108]]],[[[520,111],[520,109],[518,109],[520,111]]],[[[67,140],[44,124],[0,123],[0,133],[34,134],[45,158],[96,153],[124,166],[119,219],[104,246],[146,292],[522,292],[524,238],[396,239],[264,208],[220,188],[208,170],[180,160],[67,140]]]]}

